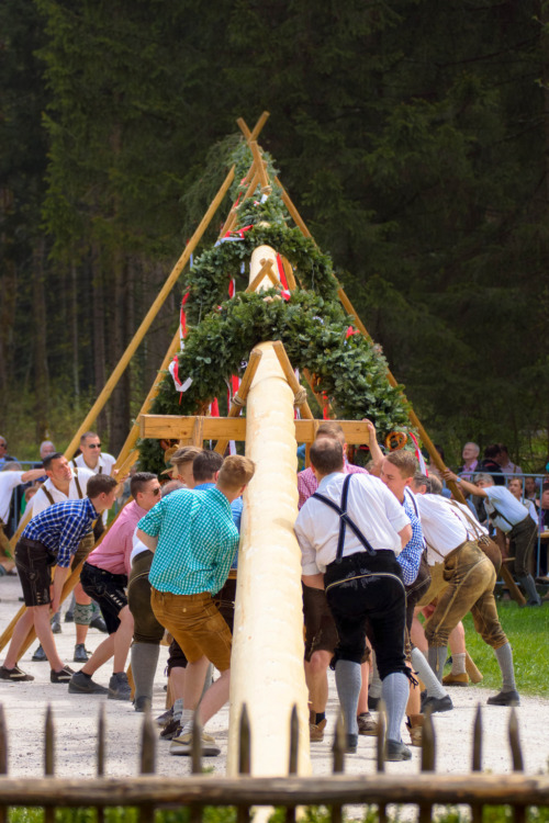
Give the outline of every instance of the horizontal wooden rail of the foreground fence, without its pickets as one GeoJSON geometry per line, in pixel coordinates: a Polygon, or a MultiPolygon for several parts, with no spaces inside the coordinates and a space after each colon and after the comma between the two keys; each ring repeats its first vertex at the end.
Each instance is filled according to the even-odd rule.
{"type": "Polygon", "coordinates": [[[318,805],[327,803],[475,803],[549,805],[549,777],[483,773],[468,775],[360,774],[314,777],[221,775],[56,778],[2,777],[3,805],[318,805]]]}

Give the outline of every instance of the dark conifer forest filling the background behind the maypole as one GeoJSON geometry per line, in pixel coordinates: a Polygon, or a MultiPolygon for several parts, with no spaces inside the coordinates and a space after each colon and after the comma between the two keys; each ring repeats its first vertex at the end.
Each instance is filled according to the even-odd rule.
{"type": "MultiPolygon", "coordinates": [[[[68,442],[224,179],[236,117],[267,109],[261,145],[448,462],[505,441],[541,469],[548,35],[549,0],[3,0],[9,451],[68,442]]],[[[113,453],[182,282],[97,422],[113,453]]]]}

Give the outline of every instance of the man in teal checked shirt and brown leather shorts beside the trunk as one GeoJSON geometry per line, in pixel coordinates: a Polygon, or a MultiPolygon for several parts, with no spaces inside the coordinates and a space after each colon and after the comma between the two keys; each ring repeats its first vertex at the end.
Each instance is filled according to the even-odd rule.
{"type": "MultiPolygon", "coordinates": [[[[199,700],[204,725],[228,699],[232,635],[212,596],[227,579],[238,546],[231,503],[242,495],[254,470],[247,458],[231,455],[214,488],[173,492],[138,525],[137,537],[155,553],[149,573],[153,611],[188,661],[181,733],[171,742],[171,754],[191,754],[199,700]],[[209,661],[221,677],[200,699],[209,661]]],[[[220,751],[203,732],[202,754],[213,756],[220,751]]]]}

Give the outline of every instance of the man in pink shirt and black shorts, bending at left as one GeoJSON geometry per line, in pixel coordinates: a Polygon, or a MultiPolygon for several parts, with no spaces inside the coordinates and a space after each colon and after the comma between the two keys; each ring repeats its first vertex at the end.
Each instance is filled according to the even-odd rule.
{"type": "Polygon", "coordinates": [[[130,700],[132,689],[125,664],[134,631],[134,619],[127,606],[127,578],[132,571],[133,535],[139,520],[160,499],[156,474],[137,472],[131,480],[133,500],[128,503],[107,537],[88,555],[80,583],[89,597],[99,604],[109,636],[96,649],[89,661],[69,681],[68,690],[78,695],[108,695],[113,700],[130,700]],[[109,688],[92,680],[92,675],[113,657],[109,688]]]}

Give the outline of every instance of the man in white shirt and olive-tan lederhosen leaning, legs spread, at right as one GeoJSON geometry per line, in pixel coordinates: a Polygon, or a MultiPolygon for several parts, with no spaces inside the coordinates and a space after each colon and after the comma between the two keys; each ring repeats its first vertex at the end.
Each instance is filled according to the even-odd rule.
{"type": "Polygon", "coordinates": [[[469,532],[464,515],[441,495],[423,494],[424,488],[416,475],[412,489],[422,516],[427,560],[432,565],[442,560],[442,575],[448,583],[438,595],[435,611],[425,624],[429,663],[441,679],[448,636],[470,611],[475,630],[494,650],[502,672],[502,690],[489,697],[489,704],[518,706],[520,699],[516,690],[513,653],[501,627],[494,599],[495,568],[469,532]]]}

